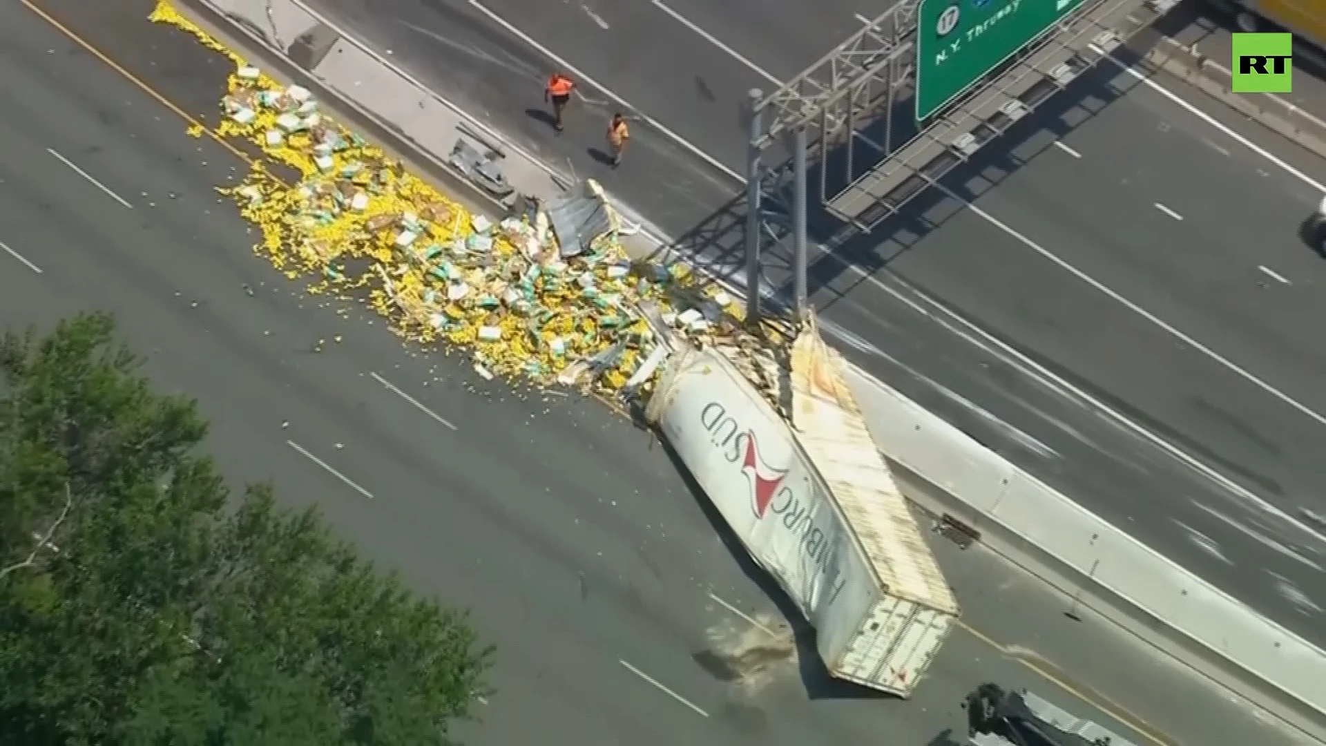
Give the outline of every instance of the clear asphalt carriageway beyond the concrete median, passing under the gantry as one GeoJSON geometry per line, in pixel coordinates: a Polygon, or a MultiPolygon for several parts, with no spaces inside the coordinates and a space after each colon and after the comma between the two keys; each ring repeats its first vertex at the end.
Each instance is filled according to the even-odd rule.
{"type": "MultiPolygon", "coordinates": [[[[741,263],[739,187],[724,171],[743,170],[744,92],[818,56],[776,31],[752,36],[760,25],[721,4],[314,4],[720,268],[741,263]],[[529,112],[552,56],[602,84],[581,81],[590,101],[562,137],[529,112]],[[642,147],[605,170],[587,153],[597,101],[613,96],[703,155],[636,125],[642,147]]],[[[789,3],[762,17],[818,38],[850,27],[835,12],[847,20],[789,3]]],[[[865,369],[1326,644],[1326,542],[1294,523],[1326,512],[1314,335],[1326,267],[1298,235],[1326,165],[1162,85],[1204,110],[1103,68],[947,183],[979,214],[931,199],[887,235],[813,256],[814,301],[865,369]]],[[[778,285],[786,252],[766,252],[778,285]]]]}

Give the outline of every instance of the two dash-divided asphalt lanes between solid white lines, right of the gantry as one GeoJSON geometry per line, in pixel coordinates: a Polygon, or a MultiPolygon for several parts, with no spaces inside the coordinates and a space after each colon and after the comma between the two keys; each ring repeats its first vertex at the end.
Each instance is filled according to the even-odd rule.
{"type": "Polygon", "coordinates": [[[1326,263],[1299,236],[1313,190],[1248,173],[1128,101],[1063,138],[1075,157],[1014,150],[1024,165],[980,204],[1262,381],[1326,406],[1311,323],[1326,312],[1314,292],[1326,263]]]}

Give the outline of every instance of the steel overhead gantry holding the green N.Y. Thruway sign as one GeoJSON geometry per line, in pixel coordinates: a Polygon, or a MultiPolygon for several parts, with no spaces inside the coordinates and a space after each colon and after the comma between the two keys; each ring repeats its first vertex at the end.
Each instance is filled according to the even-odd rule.
{"type": "MultiPolygon", "coordinates": [[[[808,311],[812,161],[819,208],[847,228],[838,235],[870,232],[1175,4],[902,0],[778,90],[752,90],[748,319],[761,316],[766,234],[792,239],[793,307],[798,317],[808,311]],[[765,163],[778,142],[790,149],[790,169],[765,163]],[[781,202],[776,195],[789,191],[790,204],[770,215],[766,196],[781,202]]],[[[724,231],[703,228],[697,232],[724,231]]],[[[837,240],[822,248],[831,252],[837,240]]]]}

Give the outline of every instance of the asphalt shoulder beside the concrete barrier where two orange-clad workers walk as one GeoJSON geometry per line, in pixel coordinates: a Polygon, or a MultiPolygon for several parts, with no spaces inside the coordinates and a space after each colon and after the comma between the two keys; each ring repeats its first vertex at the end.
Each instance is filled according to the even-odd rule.
{"type": "MultiPolygon", "coordinates": [[[[611,113],[597,104],[574,101],[566,131],[554,133],[542,102],[552,62],[463,3],[317,0],[314,5],[542,162],[598,179],[664,232],[690,230],[737,188],[731,177],[642,123],[631,126],[631,151],[622,167],[609,169],[591,154],[603,149],[611,113]]],[[[585,94],[605,100],[590,88],[585,94]]]]}

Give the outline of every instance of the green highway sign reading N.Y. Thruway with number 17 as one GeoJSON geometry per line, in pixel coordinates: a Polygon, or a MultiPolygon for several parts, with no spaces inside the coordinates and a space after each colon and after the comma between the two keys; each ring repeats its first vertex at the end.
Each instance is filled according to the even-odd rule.
{"type": "Polygon", "coordinates": [[[1083,0],[920,0],[916,121],[930,118],[1083,0]]]}

